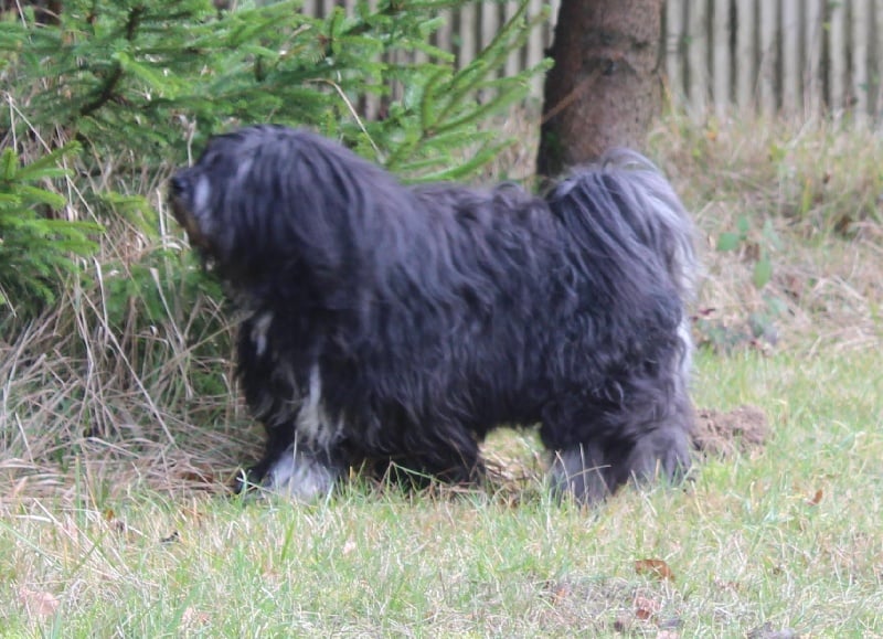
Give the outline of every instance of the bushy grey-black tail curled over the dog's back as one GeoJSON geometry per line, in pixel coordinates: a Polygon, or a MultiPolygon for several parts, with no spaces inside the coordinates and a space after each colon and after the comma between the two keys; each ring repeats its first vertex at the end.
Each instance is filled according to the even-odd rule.
{"type": "Polygon", "coordinates": [[[649,249],[681,301],[693,300],[699,274],[693,225],[650,160],[614,150],[597,164],[576,170],[546,201],[585,251],[606,254],[608,264],[635,264],[649,249]]]}

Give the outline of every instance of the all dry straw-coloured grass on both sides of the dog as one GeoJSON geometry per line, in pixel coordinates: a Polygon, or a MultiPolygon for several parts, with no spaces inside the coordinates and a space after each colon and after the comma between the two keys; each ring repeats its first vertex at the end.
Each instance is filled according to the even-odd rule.
{"type": "MultiPolygon", "coordinates": [[[[520,113],[500,127],[522,143],[499,158],[488,180],[530,178],[535,118],[520,113]]],[[[706,269],[700,340],[728,351],[880,348],[879,136],[822,121],[700,127],[672,116],[652,131],[648,153],[695,214],[706,269]],[[741,217],[747,234],[738,249],[716,251],[719,235],[741,217]],[[762,254],[773,273],[758,289],[752,273],[762,254]]],[[[163,248],[178,255],[181,236],[159,188],[135,182],[124,192],[157,206],[163,248]]],[[[148,269],[152,279],[139,279],[155,287],[143,292],[161,300],[160,317],[146,320],[137,296],[128,308],[108,310],[119,296],[107,281],[129,277],[156,248],[135,224],[111,230],[103,254],[85,266],[94,284],[73,284],[52,312],[0,343],[0,500],[63,497],[82,479],[109,493],[221,492],[257,454],[260,435],[236,398],[226,309],[205,297],[183,308],[169,284],[173,271],[160,260],[148,269]]],[[[496,459],[503,483],[538,473],[530,446],[519,444],[517,455],[502,446],[496,459]]]]}

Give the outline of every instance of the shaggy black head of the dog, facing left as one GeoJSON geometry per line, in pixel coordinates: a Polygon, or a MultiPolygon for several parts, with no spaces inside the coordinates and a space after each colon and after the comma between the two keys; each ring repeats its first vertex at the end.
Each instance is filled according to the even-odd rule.
{"type": "MultiPolygon", "coordinates": [[[[345,202],[330,201],[343,191],[329,169],[342,152],[349,153],[311,132],[275,125],[216,136],[193,167],[171,178],[172,212],[206,266],[224,279],[262,278],[304,259],[316,244],[310,233],[347,210],[345,202]]],[[[318,235],[329,233],[319,228],[318,235]]]]}

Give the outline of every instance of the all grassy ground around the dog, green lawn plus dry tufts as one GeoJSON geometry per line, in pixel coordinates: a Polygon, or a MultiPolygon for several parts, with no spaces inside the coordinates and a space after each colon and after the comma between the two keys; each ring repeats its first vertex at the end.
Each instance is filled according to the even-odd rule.
{"type": "Polygon", "coordinates": [[[74,287],[0,344],[0,636],[883,636],[883,141],[674,116],[651,140],[700,230],[695,404],[759,407],[762,447],[593,509],[512,432],[486,492],[243,502],[225,310],[163,268],[152,306],[74,287]]]}

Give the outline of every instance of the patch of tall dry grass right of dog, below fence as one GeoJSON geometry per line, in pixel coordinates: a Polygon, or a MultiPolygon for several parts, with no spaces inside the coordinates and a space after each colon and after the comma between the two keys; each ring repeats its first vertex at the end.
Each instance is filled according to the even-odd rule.
{"type": "MultiPolygon", "coordinates": [[[[778,348],[865,349],[880,343],[883,143],[828,120],[666,119],[651,136],[660,166],[694,211],[706,269],[698,312],[738,328],[770,313],[778,348]],[[734,252],[722,232],[746,217],[734,252]],[[758,256],[772,280],[753,284],[758,256]]],[[[748,331],[751,332],[751,331],[748,331]]],[[[759,332],[759,331],[757,331],[759,332]]]]}

